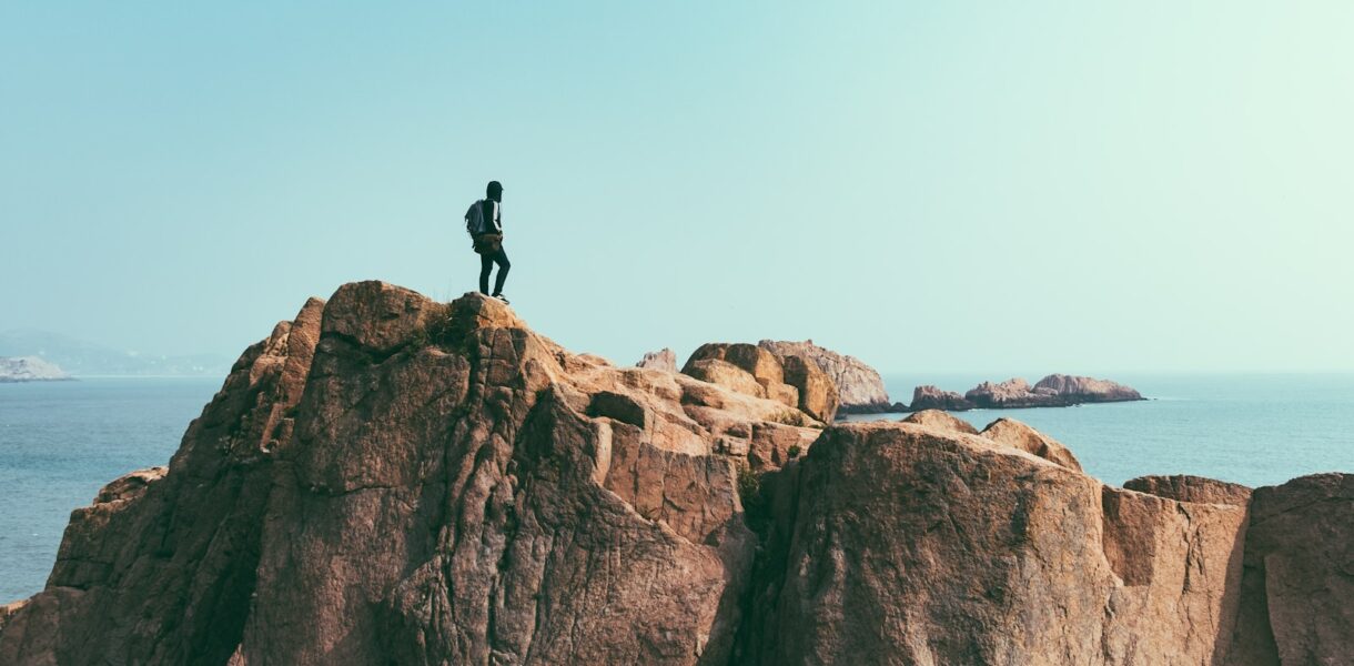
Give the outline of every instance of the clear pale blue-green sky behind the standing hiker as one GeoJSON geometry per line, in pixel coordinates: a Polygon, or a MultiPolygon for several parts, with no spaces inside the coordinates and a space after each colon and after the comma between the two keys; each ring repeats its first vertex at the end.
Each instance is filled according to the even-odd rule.
{"type": "MultiPolygon", "coordinates": [[[[0,329],[506,292],[634,363],[1354,370],[1354,3],[0,3],[0,329]]],[[[1033,379],[1033,378],[1032,378],[1033,379]]]]}

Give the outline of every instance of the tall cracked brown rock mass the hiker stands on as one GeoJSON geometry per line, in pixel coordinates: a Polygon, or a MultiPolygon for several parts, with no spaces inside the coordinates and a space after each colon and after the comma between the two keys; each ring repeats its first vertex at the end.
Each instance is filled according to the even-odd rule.
{"type": "Polygon", "coordinates": [[[724,663],[737,467],[816,436],[785,409],[349,284],[245,352],[168,472],[74,512],[0,663],[724,663]]]}

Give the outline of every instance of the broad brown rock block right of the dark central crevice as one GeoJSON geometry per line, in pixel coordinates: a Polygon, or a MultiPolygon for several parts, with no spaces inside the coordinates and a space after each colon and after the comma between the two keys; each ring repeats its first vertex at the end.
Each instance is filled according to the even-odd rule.
{"type": "Polygon", "coordinates": [[[1239,508],[911,424],[830,428],[795,467],[742,663],[1215,663],[1231,632],[1239,508]]]}

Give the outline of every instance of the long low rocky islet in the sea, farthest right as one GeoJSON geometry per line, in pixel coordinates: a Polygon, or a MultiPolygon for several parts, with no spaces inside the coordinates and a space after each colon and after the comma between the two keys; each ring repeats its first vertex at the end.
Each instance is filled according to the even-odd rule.
{"type": "Polygon", "coordinates": [[[1068,407],[1087,402],[1141,399],[1145,398],[1137,390],[1108,379],[1048,375],[1033,387],[1021,378],[999,383],[983,382],[963,395],[934,386],[918,386],[913,391],[913,403],[909,409],[911,412],[923,409],[963,412],[968,409],[1068,407]]]}

